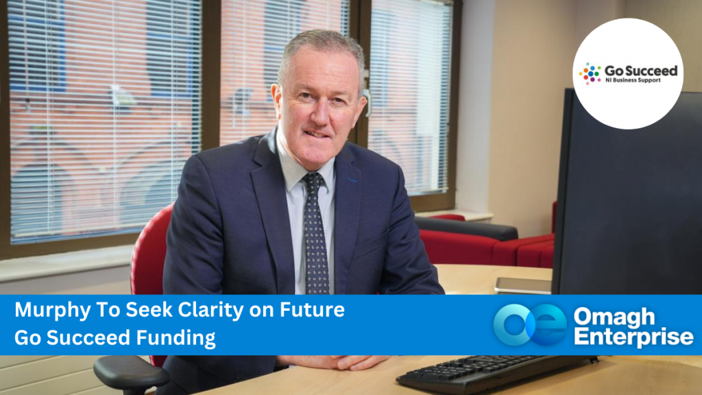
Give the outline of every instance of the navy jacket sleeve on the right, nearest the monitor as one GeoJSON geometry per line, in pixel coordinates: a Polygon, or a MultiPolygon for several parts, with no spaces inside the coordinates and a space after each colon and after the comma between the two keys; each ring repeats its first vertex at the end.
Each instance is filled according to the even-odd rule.
{"type": "Polygon", "coordinates": [[[404,186],[404,174],[397,167],[398,183],[390,214],[388,247],[380,280],[383,294],[444,294],[437,269],[430,264],[414,212],[404,186]]]}

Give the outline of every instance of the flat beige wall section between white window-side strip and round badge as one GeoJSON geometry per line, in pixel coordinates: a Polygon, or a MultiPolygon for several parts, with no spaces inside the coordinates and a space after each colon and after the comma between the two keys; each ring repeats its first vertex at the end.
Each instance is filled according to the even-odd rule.
{"type": "Polygon", "coordinates": [[[576,1],[496,4],[488,205],[521,237],[550,232],[576,1]]]}

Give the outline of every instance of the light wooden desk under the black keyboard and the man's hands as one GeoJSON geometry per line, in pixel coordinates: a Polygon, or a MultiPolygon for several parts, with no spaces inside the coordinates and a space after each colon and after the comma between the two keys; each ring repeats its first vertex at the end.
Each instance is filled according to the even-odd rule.
{"type": "MultiPolygon", "coordinates": [[[[550,269],[507,266],[437,265],[446,293],[494,294],[498,277],[548,280],[550,269]]],[[[230,394],[428,394],[395,383],[409,370],[449,361],[455,356],[394,356],[360,372],[320,370],[294,366],[247,380],[206,395],[230,394]]],[[[501,387],[514,394],[701,394],[701,356],[602,356],[600,363],[583,363],[557,375],[545,375],[519,385],[501,387]]],[[[489,394],[494,391],[489,392],[489,394]]]]}

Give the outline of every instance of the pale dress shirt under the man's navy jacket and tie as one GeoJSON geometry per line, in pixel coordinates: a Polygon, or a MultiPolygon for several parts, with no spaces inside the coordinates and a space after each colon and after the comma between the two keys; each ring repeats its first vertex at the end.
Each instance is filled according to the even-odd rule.
{"type": "MultiPolygon", "coordinates": [[[[293,238],[293,257],[295,260],[295,294],[305,294],[305,221],[304,211],[307,202],[307,188],[303,177],[307,174],[301,164],[299,164],[288,151],[283,147],[280,135],[282,131],[276,132],[275,143],[280,157],[280,164],[285,177],[286,198],[288,200],[288,216],[290,218],[290,234],[293,238]]],[[[334,185],[336,183],[336,173],[334,171],[334,160],[324,164],[319,173],[324,179],[324,185],[319,188],[319,211],[322,214],[322,226],[324,226],[324,240],[326,242],[327,260],[329,261],[329,294],[334,293],[334,185]]]]}

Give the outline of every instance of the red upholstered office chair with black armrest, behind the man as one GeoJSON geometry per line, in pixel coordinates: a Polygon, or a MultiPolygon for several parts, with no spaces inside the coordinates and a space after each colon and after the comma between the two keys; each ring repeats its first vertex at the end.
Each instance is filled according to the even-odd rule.
{"type": "MultiPolygon", "coordinates": [[[[131,259],[132,294],[163,294],[166,232],[171,224],[173,205],[161,209],[139,235],[131,259]]],[[[161,368],[166,356],[152,355],[151,365],[138,356],[104,356],[93,371],[107,387],[121,389],[125,395],[144,394],[151,387],[161,387],[171,380],[161,368]]]]}

